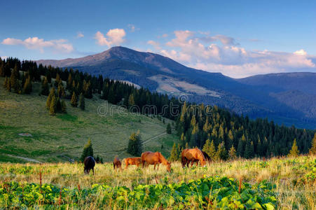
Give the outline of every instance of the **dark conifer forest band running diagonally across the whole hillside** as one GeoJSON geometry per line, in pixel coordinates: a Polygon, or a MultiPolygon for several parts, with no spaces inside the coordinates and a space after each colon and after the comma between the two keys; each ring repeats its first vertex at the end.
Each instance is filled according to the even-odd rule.
{"type": "Polygon", "coordinates": [[[69,99],[71,106],[81,106],[82,102],[78,102],[81,95],[81,100],[83,97],[99,97],[130,112],[176,120],[179,150],[195,146],[205,150],[212,148],[214,153],[222,151],[222,159],[228,158],[228,151],[235,151],[242,158],[270,157],[287,155],[296,139],[299,153],[308,153],[315,133],[313,130],[297,129],[294,126],[275,125],[267,119],[250,120],[247,116],[238,116],[218,106],[182,105],[180,100],[168,97],[167,94],[151,92],[118,80],[104,79],[102,76],[91,76],[78,70],[41,64],[37,66],[35,62],[21,63],[12,58],[0,62],[0,75],[6,77],[4,87],[8,91],[29,94],[32,92],[32,84],[40,81],[42,85],[38,93],[42,95],[48,95],[48,83],[57,89],[50,89],[46,101],[51,115],[58,111],[67,112],[62,107],[64,101],[69,99]],[[20,71],[24,72],[22,76],[20,71]]]}

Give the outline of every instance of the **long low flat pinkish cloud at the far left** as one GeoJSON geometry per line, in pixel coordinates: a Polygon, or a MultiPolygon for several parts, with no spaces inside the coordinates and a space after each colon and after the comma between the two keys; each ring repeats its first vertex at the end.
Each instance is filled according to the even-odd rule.
{"type": "Polygon", "coordinates": [[[1,43],[4,45],[23,45],[25,48],[40,50],[41,52],[44,52],[44,48],[53,48],[57,52],[74,51],[74,47],[65,39],[45,41],[43,38],[38,37],[29,37],[25,40],[18,38],[6,38],[1,43]]]}

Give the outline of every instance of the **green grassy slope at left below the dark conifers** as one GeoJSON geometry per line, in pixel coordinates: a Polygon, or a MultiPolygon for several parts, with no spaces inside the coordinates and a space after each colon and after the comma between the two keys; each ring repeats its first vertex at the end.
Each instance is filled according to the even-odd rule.
{"type": "MultiPolygon", "coordinates": [[[[130,156],[125,152],[132,132],[140,130],[142,140],[165,132],[166,124],[156,118],[119,113],[118,106],[108,104],[111,115],[99,116],[97,108],[104,100],[94,96],[85,100],[85,111],[67,103],[67,114],[49,116],[45,108],[46,96],[39,96],[40,85],[34,84],[32,94],[15,94],[3,87],[0,78],[0,161],[8,161],[5,154],[29,157],[44,162],[67,160],[60,155],[79,157],[88,138],[92,140],[95,155],[110,161],[115,155],[130,156]],[[27,132],[33,137],[20,137],[27,132]]],[[[166,119],[166,123],[169,121],[166,119]]],[[[175,134],[164,134],[144,145],[144,151],[161,151],[169,155],[175,134]],[[163,144],[163,149],[160,148],[163,144]]],[[[17,162],[17,160],[14,160],[17,162]]],[[[23,160],[21,160],[23,162],[23,160]]]]}

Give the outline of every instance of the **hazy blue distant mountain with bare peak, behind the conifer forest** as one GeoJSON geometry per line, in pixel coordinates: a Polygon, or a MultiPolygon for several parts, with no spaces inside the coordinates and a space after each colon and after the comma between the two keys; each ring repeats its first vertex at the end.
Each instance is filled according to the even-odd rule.
{"type": "Polygon", "coordinates": [[[250,118],[267,117],[278,124],[316,128],[316,73],[270,73],[234,79],[123,47],[76,59],[36,62],[130,81],[175,97],[186,94],[191,102],[217,104],[250,118]]]}

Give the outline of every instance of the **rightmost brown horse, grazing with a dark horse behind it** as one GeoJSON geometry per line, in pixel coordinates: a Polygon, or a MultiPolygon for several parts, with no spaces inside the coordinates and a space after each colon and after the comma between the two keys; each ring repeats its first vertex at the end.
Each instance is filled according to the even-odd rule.
{"type": "Polygon", "coordinates": [[[193,165],[193,162],[197,162],[196,164],[198,164],[198,161],[200,161],[200,165],[205,166],[206,162],[205,162],[205,157],[202,153],[202,151],[200,151],[200,149],[198,148],[191,148],[191,149],[184,149],[181,153],[181,162],[182,162],[182,167],[188,167],[188,164],[190,162],[191,166],[193,165]]]}

